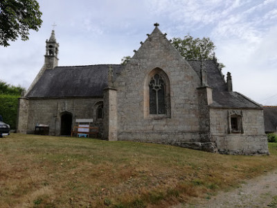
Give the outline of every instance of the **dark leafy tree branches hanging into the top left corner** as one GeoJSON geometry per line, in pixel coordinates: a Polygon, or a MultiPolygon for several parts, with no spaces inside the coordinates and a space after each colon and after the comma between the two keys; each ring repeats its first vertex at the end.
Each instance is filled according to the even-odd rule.
{"type": "Polygon", "coordinates": [[[42,25],[42,12],[35,0],[0,1],[0,45],[9,46],[8,41],[28,40],[28,31],[38,31],[42,25]]]}

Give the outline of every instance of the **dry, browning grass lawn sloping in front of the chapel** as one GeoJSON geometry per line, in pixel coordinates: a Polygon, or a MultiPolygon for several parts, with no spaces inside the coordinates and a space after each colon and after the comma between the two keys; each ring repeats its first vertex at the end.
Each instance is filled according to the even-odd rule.
{"type": "Polygon", "coordinates": [[[0,139],[1,207],[169,207],[277,168],[269,156],[12,134],[0,139]]]}

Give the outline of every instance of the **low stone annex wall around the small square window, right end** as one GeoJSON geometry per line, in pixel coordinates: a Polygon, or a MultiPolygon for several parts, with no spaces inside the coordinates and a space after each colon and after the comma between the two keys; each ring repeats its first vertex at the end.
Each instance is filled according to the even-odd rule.
{"type": "Polygon", "coordinates": [[[211,141],[222,154],[256,155],[269,154],[267,136],[261,109],[211,108],[211,141]],[[229,112],[242,114],[241,132],[229,132],[229,112]]]}

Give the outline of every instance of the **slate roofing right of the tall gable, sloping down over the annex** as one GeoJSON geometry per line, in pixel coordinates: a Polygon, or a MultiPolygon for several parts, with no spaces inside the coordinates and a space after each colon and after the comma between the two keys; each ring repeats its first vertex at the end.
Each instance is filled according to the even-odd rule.
{"type": "MultiPolygon", "coordinates": [[[[190,66],[196,71],[200,78],[200,61],[188,61],[190,66]]],[[[212,107],[232,107],[232,108],[261,108],[261,106],[251,101],[250,98],[238,92],[228,92],[228,88],[221,71],[217,67],[215,60],[205,60],[204,67],[207,71],[208,86],[213,88],[212,107]]]]}

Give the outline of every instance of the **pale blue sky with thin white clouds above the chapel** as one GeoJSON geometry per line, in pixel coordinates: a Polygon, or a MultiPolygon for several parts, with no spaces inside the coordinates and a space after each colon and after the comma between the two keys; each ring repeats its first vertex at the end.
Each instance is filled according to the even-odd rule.
{"type": "Polygon", "coordinates": [[[277,105],[277,0],[39,0],[42,26],[0,47],[0,80],[28,89],[44,64],[46,39],[60,44],[59,66],[120,64],[154,23],[168,40],[210,37],[233,91],[277,105]]]}

